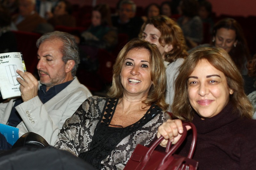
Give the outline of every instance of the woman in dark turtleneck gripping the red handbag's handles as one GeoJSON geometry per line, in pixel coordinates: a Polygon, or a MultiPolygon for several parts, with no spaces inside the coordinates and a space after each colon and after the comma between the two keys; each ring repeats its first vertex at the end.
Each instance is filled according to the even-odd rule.
{"type": "MultiPolygon", "coordinates": [[[[182,122],[197,129],[193,159],[199,169],[255,169],[256,120],[244,93],[243,78],[230,56],[221,48],[198,48],[180,66],[175,81],[172,117],[158,129],[175,144],[183,133],[182,122]]],[[[166,146],[167,140],[161,145],[166,146]]],[[[179,155],[186,156],[188,136],[179,155]]]]}

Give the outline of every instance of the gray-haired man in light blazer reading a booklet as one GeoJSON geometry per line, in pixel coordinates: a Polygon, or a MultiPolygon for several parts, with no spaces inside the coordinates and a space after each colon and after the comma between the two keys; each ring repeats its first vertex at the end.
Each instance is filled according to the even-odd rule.
{"type": "Polygon", "coordinates": [[[34,132],[54,145],[65,120],[92,94],[75,77],[79,52],[72,35],[46,33],[36,45],[40,81],[16,71],[23,78],[17,78],[21,99],[0,104],[0,123],[19,128],[19,137],[34,132]]]}

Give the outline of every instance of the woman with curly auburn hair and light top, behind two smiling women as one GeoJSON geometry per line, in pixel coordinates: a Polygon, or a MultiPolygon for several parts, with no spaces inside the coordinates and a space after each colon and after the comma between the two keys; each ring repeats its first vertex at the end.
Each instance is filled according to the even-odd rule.
{"type": "MultiPolygon", "coordinates": [[[[156,44],[166,67],[167,87],[166,103],[172,104],[174,86],[180,65],[188,55],[185,38],[178,24],[167,16],[149,18],[141,27],[140,38],[156,44]]],[[[169,108],[171,111],[171,108],[169,108]]]]}

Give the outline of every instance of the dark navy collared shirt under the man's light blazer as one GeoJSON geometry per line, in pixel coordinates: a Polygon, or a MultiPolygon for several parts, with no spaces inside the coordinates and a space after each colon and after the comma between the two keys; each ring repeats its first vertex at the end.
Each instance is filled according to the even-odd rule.
{"type": "MultiPolygon", "coordinates": [[[[46,103],[48,100],[52,99],[56,94],[58,94],[60,91],[65,89],[73,80],[67,81],[65,83],[55,85],[51,87],[47,92],[46,92],[46,86],[41,85],[37,95],[39,99],[42,101],[42,103],[46,103]]],[[[11,115],[8,119],[8,124],[9,126],[17,127],[18,124],[22,121],[19,113],[16,111],[15,107],[21,104],[23,101],[21,98],[16,99],[14,106],[12,107],[11,115]]]]}

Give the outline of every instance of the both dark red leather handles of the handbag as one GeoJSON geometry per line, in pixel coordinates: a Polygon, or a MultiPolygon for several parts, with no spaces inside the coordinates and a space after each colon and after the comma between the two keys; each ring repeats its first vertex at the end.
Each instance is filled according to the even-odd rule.
{"type": "MultiPolygon", "coordinates": [[[[194,150],[195,150],[195,144],[196,144],[196,128],[195,128],[195,125],[193,125],[192,123],[189,123],[189,122],[183,122],[182,123],[183,125],[183,133],[179,139],[179,141],[172,147],[172,149],[169,151],[169,148],[170,148],[170,145],[171,145],[171,142],[170,140],[168,141],[168,144],[166,147],[166,150],[165,152],[169,151],[166,156],[164,157],[165,159],[168,159],[179,147],[180,145],[183,143],[184,139],[187,137],[187,129],[186,129],[186,125],[189,125],[191,126],[192,130],[193,130],[193,142],[191,144],[191,148],[190,148],[190,152],[188,154],[188,158],[192,157],[193,153],[194,153],[194,150]],[[193,146],[193,147],[192,147],[193,146]],[[192,151],[192,152],[191,152],[192,151]],[[169,156],[170,155],[170,156],[169,156]]],[[[140,168],[138,169],[143,169],[148,160],[150,159],[153,151],[156,149],[156,147],[162,142],[162,140],[164,139],[163,136],[159,137],[158,139],[156,139],[156,141],[149,147],[148,149],[148,152],[145,154],[143,160],[141,161],[141,164],[140,164],[140,168]]],[[[164,163],[164,161],[162,160],[161,164],[162,165],[164,163]]]]}

